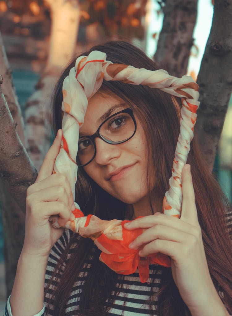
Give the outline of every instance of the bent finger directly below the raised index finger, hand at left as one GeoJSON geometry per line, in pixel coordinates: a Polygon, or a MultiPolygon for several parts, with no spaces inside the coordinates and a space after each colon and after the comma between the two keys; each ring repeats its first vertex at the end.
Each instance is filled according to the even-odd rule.
{"type": "Polygon", "coordinates": [[[68,196],[68,206],[70,207],[71,210],[74,210],[75,206],[74,206],[74,208],[72,208],[72,206],[74,204],[74,200],[73,200],[73,193],[72,193],[71,185],[70,185],[67,177],[62,173],[51,174],[50,176],[43,179],[42,181],[34,183],[33,185],[31,185],[27,189],[27,194],[31,194],[30,192],[34,193],[36,191],[41,191],[43,189],[51,188],[54,186],[63,186],[64,187],[66,194],[68,196]]]}

